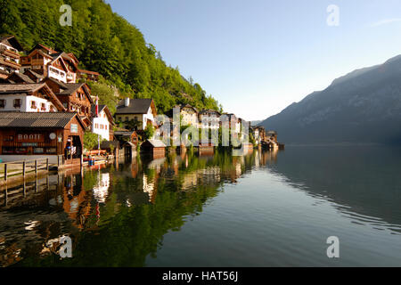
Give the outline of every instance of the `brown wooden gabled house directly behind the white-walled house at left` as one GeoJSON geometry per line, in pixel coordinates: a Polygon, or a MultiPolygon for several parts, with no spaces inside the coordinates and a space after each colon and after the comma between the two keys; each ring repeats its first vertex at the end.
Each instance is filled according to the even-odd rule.
{"type": "Polygon", "coordinates": [[[87,127],[92,125],[94,101],[86,83],[63,83],[50,77],[46,77],[43,82],[49,85],[66,110],[78,112],[87,127]]]}

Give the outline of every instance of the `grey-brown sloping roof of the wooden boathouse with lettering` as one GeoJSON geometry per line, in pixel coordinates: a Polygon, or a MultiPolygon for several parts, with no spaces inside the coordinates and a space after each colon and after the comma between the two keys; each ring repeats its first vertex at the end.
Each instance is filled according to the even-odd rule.
{"type": "MultiPolygon", "coordinates": [[[[0,127],[63,128],[77,113],[2,112],[0,127]]],[[[78,117],[78,116],[77,116],[78,117]]]]}

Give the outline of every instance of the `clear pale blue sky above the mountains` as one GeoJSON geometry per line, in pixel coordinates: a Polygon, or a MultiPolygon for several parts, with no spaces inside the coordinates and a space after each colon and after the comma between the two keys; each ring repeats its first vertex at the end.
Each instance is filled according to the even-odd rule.
{"type": "Polygon", "coordinates": [[[106,2],[164,61],[246,120],[401,54],[399,0],[106,2]]]}

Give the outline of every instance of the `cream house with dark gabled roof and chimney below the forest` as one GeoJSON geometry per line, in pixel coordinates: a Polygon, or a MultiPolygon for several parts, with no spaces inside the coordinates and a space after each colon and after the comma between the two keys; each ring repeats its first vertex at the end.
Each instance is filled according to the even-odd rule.
{"type": "Polygon", "coordinates": [[[134,121],[137,123],[135,130],[144,130],[147,125],[154,126],[157,111],[153,99],[126,98],[119,102],[114,116],[125,128],[130,128],[129,122],[134,121]]]}

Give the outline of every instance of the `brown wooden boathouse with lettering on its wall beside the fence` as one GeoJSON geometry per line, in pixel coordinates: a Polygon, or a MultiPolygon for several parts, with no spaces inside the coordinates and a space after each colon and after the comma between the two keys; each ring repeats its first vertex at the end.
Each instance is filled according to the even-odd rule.
{"type": "Polygon", "coordinates": [[[77,113],[3,112],[0,117],[0,159],[48,158],[80,164],[85,125],[77,113]],[[27,156],[32,156],[29,158],[27,156]]]}

